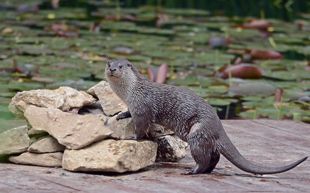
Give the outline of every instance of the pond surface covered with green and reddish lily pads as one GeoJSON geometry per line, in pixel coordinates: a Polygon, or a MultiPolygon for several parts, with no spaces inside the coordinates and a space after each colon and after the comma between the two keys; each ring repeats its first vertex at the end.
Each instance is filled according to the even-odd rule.
{"type": "Polygon", "coordinates": [[[294,22],[266,19],[270,26],[264,31],[245,26],[255,18],[214,16],[204,10],[116,9],[104,3],[36,10],[39,1],[29,0],[23,1],[26,11],[19,7],[17,12],[12,10],[20,6],[16,2],[1,5],[0,120],[17,120],[8,104],[18,91],[59,86],[86,91],[105,80],[107,59],[126,58],[146,77],[147,68],[167,63],[166,83],[196,92],[221,119],[277,119],[280,102],[274,102],[274,93],[280,88],[280,118],[289,114],[310,122],[307,14],[294,22]],[[282,55],[266,59],[268,53],[255,56],[253,50],[282,55]],[[218,71],[228,63],[233,66],[238,57],[263,73],[251,79],[219,78],[218,71]]]}

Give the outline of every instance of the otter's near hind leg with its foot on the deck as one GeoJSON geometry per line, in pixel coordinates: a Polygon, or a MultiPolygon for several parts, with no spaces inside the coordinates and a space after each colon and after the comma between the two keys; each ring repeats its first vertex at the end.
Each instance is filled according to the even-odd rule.
{"type": "Polygon", "coordinates": [[[208,167],[212,153],[210,142],[207,136],[204,135],[203,125],[201,123],[195,123],[192,126],[188,137],[188,143],[191,147],[191,154],[196,161],[196,166],[191,170],[184,170],[181,174],[199,174],[208,167]]]}

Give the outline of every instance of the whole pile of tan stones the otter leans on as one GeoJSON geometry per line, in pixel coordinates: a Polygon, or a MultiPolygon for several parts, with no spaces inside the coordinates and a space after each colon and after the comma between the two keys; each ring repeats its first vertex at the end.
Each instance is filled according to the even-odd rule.
{"type": "Polygon", "coordinates": [[[27,125],[0,134],[0,156],[13,154],[9,161],[16,164],[105,172],[137,171],[185,157],[187,143],[160,125],[144,141],[123,140],[135,133],[132,118],[116,121],[126,104],[104,81],[87,92],[60,87],[17,93],[9,109],[27,125]]]}

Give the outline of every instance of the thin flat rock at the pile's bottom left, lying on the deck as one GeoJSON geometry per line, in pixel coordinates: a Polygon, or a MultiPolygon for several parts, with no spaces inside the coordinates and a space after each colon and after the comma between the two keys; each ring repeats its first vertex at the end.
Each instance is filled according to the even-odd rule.
{"type": "Polygon", "coordinates": [[[9,157],[9,161],[14,164],[34,165],[44,167],[61,167],[63,153],[32,153],[26,152],[18,156],[9,157]]]}

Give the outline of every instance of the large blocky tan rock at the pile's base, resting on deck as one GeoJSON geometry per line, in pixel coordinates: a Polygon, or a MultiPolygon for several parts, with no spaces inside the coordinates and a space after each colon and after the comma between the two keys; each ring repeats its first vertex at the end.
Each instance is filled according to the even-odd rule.
{"type": "Polygon", "coordinates": [[[103,140],[64,152],[63,169],[69,171],[126,172],[152,165],[157,144],[151,141],[103,140]]]}

